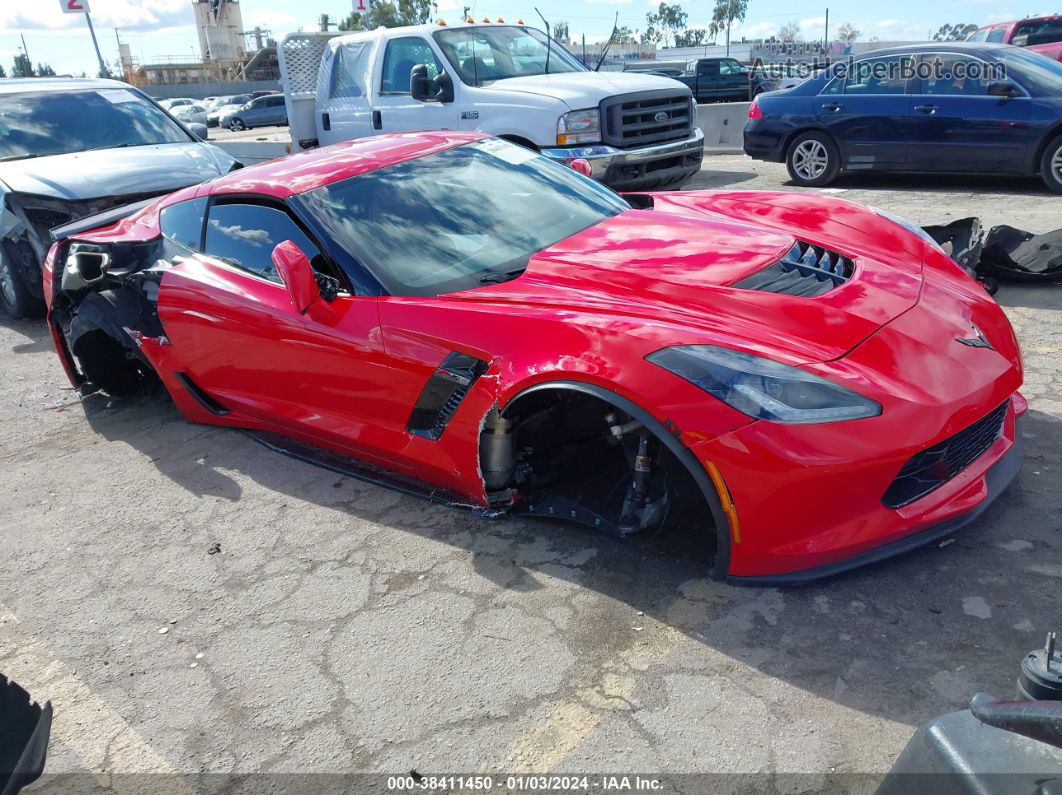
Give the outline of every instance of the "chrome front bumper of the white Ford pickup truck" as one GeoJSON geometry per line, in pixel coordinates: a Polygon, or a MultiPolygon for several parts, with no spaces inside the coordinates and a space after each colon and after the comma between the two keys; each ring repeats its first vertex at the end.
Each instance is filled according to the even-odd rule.
{"type": "Polygon", "coordinates": [[[587,160],[598,182],[617,190],[639,190],[696,174],[704,157],[704,133],[695,127],[693,134],[681,141],[639,149],[623,150],[595,143],[547,148],[542,154],[565,165],[580,158],[587,160]]]}

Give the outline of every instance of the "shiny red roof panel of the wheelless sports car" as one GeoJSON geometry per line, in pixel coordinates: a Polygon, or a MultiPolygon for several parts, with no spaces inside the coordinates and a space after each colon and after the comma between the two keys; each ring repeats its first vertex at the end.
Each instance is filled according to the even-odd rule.
{"type": "Polygon", "coordinates": [[[290,198],[325,185],[486,137],[482,133],[438,131],[344,141],[234,171],[207,183],[206,191],[200,195],[254,193],[290,198]]]}

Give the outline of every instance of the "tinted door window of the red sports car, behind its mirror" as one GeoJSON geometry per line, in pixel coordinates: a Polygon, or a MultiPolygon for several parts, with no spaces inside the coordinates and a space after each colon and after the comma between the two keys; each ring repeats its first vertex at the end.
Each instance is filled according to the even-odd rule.
{"type": "Polygon", "coordinates": [[[284,210],[257,204],[216,204],[210,208],[203,252],[280,284],[273,249],[286,240],[302,248],[310,262],[320,262],[320,249],[284,210]]]}

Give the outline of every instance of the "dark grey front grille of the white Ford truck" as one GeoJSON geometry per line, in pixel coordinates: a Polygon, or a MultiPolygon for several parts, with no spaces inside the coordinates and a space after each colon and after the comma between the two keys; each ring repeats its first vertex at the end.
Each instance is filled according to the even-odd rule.
{"type": "Polygon", "coordinates": [[[620,149],[688,138],[693,131],[688,93],[669,89],[613,97],[601,103],[605,143],[620,149]]]}

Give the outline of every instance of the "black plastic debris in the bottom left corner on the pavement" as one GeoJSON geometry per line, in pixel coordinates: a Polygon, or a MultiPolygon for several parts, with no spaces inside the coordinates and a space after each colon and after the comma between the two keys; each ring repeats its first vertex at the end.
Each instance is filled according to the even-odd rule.
{"type": "Polygon", "coordinates": [[[0,795],[15,795],[40,778],[51,731],[51,702],[40,706],[0,674],[0,795]]]}

